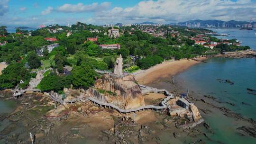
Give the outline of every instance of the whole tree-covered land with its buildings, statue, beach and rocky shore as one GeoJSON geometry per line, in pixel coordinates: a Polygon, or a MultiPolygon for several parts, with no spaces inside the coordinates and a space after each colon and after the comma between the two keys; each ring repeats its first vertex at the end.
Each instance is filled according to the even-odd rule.
{"type": "Polygon", "coordinates": [[[16,34],[8,34],[2,26],[0,101],[15,106],[0,113],[0,142],[205,144],[202,137],[211,141],[209,134],[214,135],[201,116],[210,113],[209,106],[250,123],[237,130],[256,137],[253,119],[195,97],[193,91],[180,89],[174,77],[167,79],[213,56],[256,57],[239,40],[209,33],[201,28],[77,22],[35,31],[17,28],[16,34]]]}

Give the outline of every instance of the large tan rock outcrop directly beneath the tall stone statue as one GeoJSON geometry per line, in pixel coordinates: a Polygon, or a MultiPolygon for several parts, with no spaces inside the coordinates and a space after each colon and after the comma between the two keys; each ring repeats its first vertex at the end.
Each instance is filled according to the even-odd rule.
{"type": "Polygon", "coordinates": [[[144,106],[144,97],[136,80],[132,75],[122,78],[104,74],[103,77],[95,81],[91,94],[97,99],[114,103],[120,108],[129,109],[144,106]]]}

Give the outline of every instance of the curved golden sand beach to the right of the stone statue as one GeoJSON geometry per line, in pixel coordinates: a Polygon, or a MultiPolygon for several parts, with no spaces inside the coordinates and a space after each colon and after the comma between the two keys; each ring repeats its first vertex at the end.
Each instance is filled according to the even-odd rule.
{"type": "MultiPolygon", "coordinates": [[[[206,59],[206,57],[200,57],[197,59],[204,60],[206,59]]],[[[167,78],[176,75],[179,72],[183,72],[184,70],[188,69],[196,63],[201,62],[194,61],[191,59],[183,59],[174,62],[164,62],[135,75],[135,79],[141,84],[152,83],[153,81],[156,81],[160,78],[167,78]]]]}

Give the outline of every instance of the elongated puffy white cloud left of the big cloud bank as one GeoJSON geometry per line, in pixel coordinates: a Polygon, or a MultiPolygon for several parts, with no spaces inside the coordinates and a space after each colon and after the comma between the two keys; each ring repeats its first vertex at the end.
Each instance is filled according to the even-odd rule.
{"type": "Polygon", "coordinates": [[[84,5],[83,3],[78,4],[64,4],[57,8],[60,12],[94,12],[102,11],[110,7],[110,2],[102,2],[101,4],[95,2],[90,5],[84,5]]]}

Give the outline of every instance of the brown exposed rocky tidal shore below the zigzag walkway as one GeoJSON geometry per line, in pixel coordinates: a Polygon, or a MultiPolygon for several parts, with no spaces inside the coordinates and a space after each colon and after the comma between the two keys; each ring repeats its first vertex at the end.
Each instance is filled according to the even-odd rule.
{"type": "MultiPolygon", "coordinates": [[[[1,100],[9,97],[11,93],[1,92],[1,100]]],[[[41,93],[24,94],[17,99],[14,112],[0,115],[1,121],[8,122],[0,131],[0,139],[8,144],[29,144],[31,132],[35,144],[76,144],[76,140],[89,144],[142,144],[164,142],[161,135],[165,133],[169,140],[178,142],[183,141],[183,136],[200,141],[199,137],[206,135],[191,119],[170,117],[167,111],[147,110],[125,115],[96,107],[89,101],[55,105],[56,108],[41,93]]]]}

